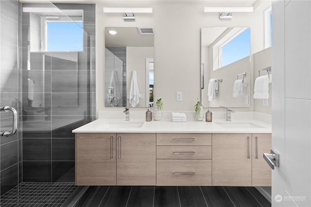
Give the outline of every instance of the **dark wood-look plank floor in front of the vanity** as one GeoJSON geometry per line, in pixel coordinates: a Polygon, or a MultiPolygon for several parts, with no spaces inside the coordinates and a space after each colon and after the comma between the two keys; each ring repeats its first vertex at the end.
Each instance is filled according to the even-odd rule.
{"type": "Polygon", "coordinates": [[[98,186],[81,207],[271,207],[254,187],[98,186]]]}

